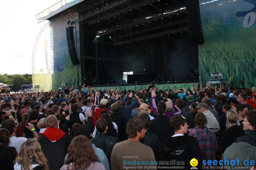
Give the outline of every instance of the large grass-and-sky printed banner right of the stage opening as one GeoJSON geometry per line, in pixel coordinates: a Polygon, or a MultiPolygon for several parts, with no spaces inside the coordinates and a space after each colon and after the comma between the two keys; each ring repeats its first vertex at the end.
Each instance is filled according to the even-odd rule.
{"type": "Polygon", "coordinates": [[[199,0],[205,43],[199,45],[201,82],[222,72],[231,87],[254,87],[256,1],[199,0]]]}

